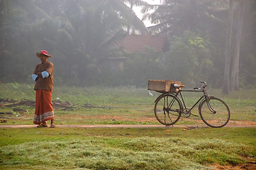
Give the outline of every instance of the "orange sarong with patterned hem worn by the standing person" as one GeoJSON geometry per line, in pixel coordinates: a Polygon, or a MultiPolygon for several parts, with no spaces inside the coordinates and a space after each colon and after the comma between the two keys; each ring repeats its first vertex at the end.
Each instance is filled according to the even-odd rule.
{"type": "Polygon", "coordinates": [[[35,91],[35,116],[33,123],[41,123],[54,119],[52,108],[52,92],[46,90],[35,91]]]}

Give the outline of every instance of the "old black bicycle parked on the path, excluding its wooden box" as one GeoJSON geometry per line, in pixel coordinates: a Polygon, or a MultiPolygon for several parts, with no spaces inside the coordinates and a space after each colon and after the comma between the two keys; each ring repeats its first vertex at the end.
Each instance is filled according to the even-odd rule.
{"type": "Polygon", "coordinates": [[[184,85],[171,84],[171,90],[163,92],[155,100],[155,117],[157,120],[166,126],[174,125],[182,115],[186,118],[189,118],[190,115],[194,115],[191,113],[191,110],[200,102],[199,115],[206,125],[211,128],[221,128],[225,126],[230,119],[228,105],[220,98],[208,96],[206,82],[201,81],[201,84],[204,85],[201,88],[196,87],[194,90],[183,90],[184,85]],[[203,95],[194,103],[194,106],[187,108],[182,96],[182,92],[185,91],[203,92],[203,95]],[[181,98],[179,98],[179,96],[181,98]]]}

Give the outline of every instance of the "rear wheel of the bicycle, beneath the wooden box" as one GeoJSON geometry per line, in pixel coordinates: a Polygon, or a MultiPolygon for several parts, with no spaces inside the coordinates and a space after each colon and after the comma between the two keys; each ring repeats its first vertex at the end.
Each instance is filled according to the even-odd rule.
{"type": "Polygon", "coordinates": [[[165,94],[155,101],[155,117],[163,125],[174,125],[182,114],[182,104],[172,94],[165,94]]]}

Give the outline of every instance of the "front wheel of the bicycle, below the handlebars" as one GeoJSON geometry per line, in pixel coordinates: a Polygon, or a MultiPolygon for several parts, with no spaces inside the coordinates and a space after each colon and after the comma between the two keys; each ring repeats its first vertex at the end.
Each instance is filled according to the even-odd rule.
{"type": "Polygon", "coordinates": [[[211,96],[210,101],[202,101],[199,114],[206,125],[211,128],[221,128],[228,123],[230,111],[228,105],[220,98],[211,96]]]}

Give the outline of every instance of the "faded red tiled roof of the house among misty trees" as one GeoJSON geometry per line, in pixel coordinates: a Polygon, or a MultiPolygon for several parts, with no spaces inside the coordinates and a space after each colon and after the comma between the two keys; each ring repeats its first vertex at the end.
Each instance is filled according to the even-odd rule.
{"type": "Polygon", "coordinates": [[[129,52],[145,53],[145,46],[150,46],[155,51],[162,51],[165,38],[165,35],[126,35],[119,47],[123,47],[129,52]]]}

